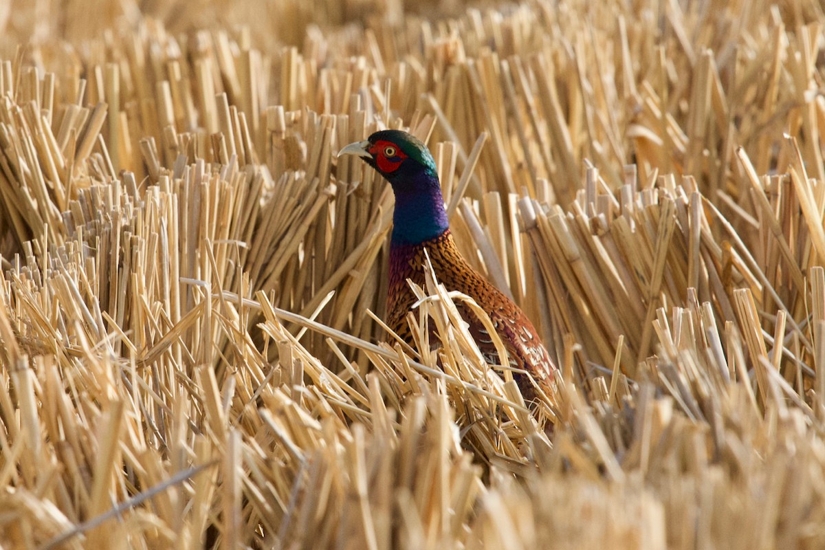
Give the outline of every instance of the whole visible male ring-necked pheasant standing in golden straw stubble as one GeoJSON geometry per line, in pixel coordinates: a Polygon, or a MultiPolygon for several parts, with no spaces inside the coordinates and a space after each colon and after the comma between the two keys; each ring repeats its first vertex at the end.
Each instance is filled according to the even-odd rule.
{"type": "MultiPolygon", "coordinates": [[[[436,162],[427,146],[401,130],[383,130],[365,141],[350,143],[338,156],[356,155],[389,181],[395,194],[393,234],[389,243],[389,287],[387,324],[412,343],[406,321],[416,302],[407,280],[425,284],[427,250],[436,278],[448,290],[457,290],[475,300],[488,314],[509,355],[509,363],[523,369],[537,383],[549,383],[556,367],[541,343],[530,319],[511,299],[479,275],[461,257],[447,220],[436,162]]],[[[469,322],[470,334],[484,360],[501,364],[496,347],[483,324],[469,308],[457,304],[469,322]]],[[[514,373],[522,395],[535,398],[535,387],[524,374],[514,373]]]]}

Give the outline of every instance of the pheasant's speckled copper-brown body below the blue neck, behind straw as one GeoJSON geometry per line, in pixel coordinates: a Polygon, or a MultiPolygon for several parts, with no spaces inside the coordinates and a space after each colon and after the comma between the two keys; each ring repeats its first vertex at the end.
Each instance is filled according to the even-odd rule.
{"type": "MultiPolygon", "coordinates": [[[[389,289],[387,292],[387,322],[403,340],[412,342],[407,313],[416,302],[415,294],[407,280],[424,286],[425,256],[430,256],[436,279],[448,290],[467,294],[488,314],[498,336],[507,348],[509,362],[518,369],[528,371],[537,383],[549,383],[553,363],[544,349],[530,319],[502,292],[488,283],[461,257],[450,230],[439,237],[416,245],[393,245],[389,252],[389,289]]],[[[484,360],[501,364],[496,347],[482,323],[469,308],[456,303],[461,316],[469,323],[470,334],[479,345],[484,360]]],[[[523,374],[514,377],[521,393],[528,400],[535,397],[535,388],[523,374]]]]}

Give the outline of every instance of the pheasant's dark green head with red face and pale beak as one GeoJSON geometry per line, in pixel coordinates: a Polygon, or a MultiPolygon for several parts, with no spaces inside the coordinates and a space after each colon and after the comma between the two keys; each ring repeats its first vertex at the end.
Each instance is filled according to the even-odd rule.
{"type": "Polygon", "coordinates": [[[389,181],[396,195],[399,191],[427,191],[428,182],[438,181],[436,162],[427,146],[413,134],[402,130],[375,132],[365,141],[350,143],[342,148],[338,156],[342,155],[361,157],[389,181]]]}

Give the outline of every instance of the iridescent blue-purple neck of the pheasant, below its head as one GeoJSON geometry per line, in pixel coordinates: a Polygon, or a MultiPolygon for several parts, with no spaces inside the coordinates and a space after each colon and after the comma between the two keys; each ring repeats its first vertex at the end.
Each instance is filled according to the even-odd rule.
{"type": "Polygon", "coordinates": [[[391,247],[421,244],[450,228],[438,176],[424,171],[391,183],[395,192],[391,247]]]}

